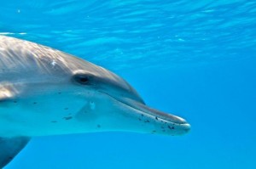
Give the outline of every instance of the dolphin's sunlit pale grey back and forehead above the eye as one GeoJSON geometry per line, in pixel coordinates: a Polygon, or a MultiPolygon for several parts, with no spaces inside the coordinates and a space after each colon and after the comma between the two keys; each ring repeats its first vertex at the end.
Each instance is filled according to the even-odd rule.
{"type": "Polygon", "coordinates": [[[26,79],[27,76],[37,79],[34,75],[63,77],[84,70],[84,67],[90,74],[108,76],[108,81],[131,88],[124,79],[84,59],[34,42],[0,36],[0,83],[3,79],[22,79],[22,76],[26,79]]]}

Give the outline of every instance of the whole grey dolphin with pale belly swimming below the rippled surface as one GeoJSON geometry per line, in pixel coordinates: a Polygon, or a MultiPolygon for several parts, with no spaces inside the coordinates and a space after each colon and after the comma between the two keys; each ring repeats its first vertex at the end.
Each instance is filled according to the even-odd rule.
{"type": "Polygon", "coordinates": [[[109,70],[0,36],[0,168],[36,136],[101,131],[181,135],[189,127],[180,117],[146,106],[109,70]]]}

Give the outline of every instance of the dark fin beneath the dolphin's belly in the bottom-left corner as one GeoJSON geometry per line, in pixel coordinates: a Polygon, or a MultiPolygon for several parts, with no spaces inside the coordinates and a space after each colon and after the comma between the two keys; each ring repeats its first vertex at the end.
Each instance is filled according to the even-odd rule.
{"type": "Polygon", "coordinates": [[[21,149],[23,149],[30,138],[0,138],[0,168],[12,161],[21,149]]]}

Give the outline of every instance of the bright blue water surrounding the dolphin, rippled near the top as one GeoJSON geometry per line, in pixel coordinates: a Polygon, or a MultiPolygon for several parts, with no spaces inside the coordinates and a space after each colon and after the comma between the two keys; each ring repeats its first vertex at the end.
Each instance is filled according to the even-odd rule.
{"type": "Polygon", "coordinates": [[[100,132],[34,138],[13,168],[256,168],[256,2],[1,1],[0,34],[123,76],[182,137],[100,132]]]}

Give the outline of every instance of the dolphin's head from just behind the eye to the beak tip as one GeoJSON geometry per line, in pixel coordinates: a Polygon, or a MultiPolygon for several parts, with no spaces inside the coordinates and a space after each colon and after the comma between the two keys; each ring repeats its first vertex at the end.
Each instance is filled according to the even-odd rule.
{"type": "Polygon", "coordinates": [[[91,131],[129,131],[165,135],[189,132],[189,123],[176,115],[148,107],[121,77],[79,60],[70,78],[75,93],[84,100],[76,118],[91,131]]]}

